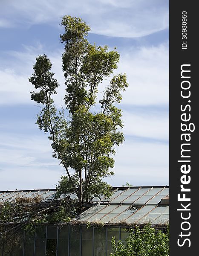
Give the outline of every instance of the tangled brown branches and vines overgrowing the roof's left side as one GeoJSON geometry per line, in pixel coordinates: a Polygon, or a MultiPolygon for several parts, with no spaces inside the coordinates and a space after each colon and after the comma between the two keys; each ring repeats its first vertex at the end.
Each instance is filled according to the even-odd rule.
{"type": "Polygon", "coordinates": [[[0,247],[7,241],[17,243],[21,230],[31,233],[37,224],[66,223],[75,216],[70,198],[43,201],[40,196],[33,196],[0,202],[0,247]]]}

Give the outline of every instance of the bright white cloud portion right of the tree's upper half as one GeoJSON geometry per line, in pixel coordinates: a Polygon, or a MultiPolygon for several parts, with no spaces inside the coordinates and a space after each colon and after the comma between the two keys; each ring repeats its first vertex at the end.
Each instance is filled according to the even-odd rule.
{"type": "Polygon", "coordinates": [[[167,45],[141,47],[121,52],[117,73],[127,73],[129,87],[123,103],[168,105],[169,49],[167,45]]]}

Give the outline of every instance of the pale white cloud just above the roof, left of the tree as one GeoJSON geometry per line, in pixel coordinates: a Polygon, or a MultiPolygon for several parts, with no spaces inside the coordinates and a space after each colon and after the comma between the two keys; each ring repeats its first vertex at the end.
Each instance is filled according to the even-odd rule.
{"type": "Polygon", "coordinates": [[[44,134],[0,134],[0,165],[0,190],[55,188],[65,174],[44,134]]]}

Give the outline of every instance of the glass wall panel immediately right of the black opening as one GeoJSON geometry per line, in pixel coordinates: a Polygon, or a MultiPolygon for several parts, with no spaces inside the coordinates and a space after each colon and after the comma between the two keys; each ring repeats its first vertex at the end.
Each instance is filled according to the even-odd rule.
{"type": "Polygon", "coordinates": [[[58,256],[68,256],[69,226],[58,229],[58,256]]]}

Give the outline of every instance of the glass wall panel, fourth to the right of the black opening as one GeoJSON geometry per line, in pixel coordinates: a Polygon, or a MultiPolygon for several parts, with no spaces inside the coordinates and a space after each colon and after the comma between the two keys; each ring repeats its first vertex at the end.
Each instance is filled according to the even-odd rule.
{"type": "Polygon", "coordinates": [[[106,255],[106,227],[94,228],[94,255],[106,255]]]}

